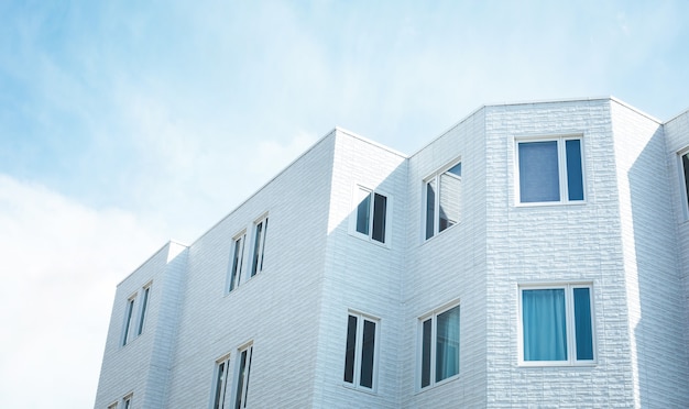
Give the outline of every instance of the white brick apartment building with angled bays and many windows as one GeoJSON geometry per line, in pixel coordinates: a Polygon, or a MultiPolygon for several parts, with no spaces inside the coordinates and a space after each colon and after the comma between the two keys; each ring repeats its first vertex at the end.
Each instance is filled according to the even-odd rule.
{"type": "Polygon", "coordinates": [[[688,190],[614,98],[335,129],[118,286],[96,408],[689,407],[688,190]]]}

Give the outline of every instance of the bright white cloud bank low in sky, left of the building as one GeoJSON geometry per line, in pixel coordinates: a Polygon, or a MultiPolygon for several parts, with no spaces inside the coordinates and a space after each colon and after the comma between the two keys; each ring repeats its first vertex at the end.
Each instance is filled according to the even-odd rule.
{"type": "Polygon", "coordinates": [[[3,175],[0,232],[0,407],[92,406],[116,285],[163,241],[3,175]]]}

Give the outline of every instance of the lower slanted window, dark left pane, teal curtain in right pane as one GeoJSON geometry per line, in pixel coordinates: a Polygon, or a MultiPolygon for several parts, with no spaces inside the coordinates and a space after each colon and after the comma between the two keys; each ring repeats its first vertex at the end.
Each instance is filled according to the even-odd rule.
{"type": "Polygon", "coordinates": [[[459,374],[459,306],[419,320],[420,387],[434,386],[459,374]]]}

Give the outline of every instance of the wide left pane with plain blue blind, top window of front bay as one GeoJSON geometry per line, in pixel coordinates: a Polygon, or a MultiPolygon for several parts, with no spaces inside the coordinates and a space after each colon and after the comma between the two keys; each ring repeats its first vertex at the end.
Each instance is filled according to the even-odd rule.
{"type": "Polygon", "coordinates": [[[557,141],[518,144],[522,203],[560,200],[557,141]]]}

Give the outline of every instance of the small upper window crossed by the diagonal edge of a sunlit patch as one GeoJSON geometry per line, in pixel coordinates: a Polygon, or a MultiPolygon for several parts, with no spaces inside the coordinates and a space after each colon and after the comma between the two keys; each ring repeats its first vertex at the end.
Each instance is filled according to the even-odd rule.
{"type": "Polygon", "coordinates": [[[353,231],[361,237],[385,243],[385,223],[387,219],[387,197],[373,190],[358,187],[354,194],[357,203],[353,231]]]}

